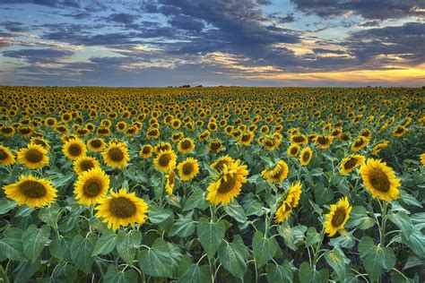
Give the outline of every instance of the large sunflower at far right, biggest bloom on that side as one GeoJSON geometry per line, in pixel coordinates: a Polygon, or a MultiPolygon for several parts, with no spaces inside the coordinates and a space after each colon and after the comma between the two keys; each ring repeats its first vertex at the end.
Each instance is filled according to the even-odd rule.
{"type": "Polygon", "coordinates": [[[400,179],[395,176],[391,167],[386,166],[386,162],[379,159],[368,159],[360,167],[360,175],[363,184],[374,198],[386,202],[395,201],[398,198],[400,179]]]}

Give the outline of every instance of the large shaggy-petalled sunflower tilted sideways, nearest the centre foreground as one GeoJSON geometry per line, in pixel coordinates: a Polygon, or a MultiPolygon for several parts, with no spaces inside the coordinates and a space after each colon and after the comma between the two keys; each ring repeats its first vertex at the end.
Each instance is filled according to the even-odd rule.
{"type": "Polygon", "coordinates": [[[247,183],[247,166],[240,165],[239,160],[224,166],[215,182],[206,189],[208,195],[206,200],[213,204],[226,205],[239,195],[242,184],[247,183]]]}

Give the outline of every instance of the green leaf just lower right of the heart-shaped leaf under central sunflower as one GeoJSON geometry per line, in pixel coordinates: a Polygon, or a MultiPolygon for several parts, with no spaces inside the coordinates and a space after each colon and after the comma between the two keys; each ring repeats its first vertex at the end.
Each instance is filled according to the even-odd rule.
{"type": "Polygon", "coordinates": [[[247,271],[247,250],[242,238],[235,236],[232,243],[222,242],[219,250],[219,260],[226,270],[239,279],[247,271]]]}

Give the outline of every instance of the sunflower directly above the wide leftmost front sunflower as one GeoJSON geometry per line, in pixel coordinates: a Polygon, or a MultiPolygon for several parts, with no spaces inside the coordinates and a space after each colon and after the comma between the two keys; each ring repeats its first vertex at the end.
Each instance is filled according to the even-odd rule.
{"type": "Polygon", "coordinates": [[[38,169],[48,165],[48,150],[41,145],[29,143],[18,152],[17,160],[30,169],[38,169]]]}

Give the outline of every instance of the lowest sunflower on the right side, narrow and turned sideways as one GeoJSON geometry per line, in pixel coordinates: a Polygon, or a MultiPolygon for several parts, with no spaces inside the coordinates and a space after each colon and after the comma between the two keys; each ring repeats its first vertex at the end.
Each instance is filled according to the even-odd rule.
{"type": "Polygon", "coordinates": [[[325,233],[334,236],[336,232],[343,230],[345,223],[350,218],[351,205],[347,197],[341,198],[338,203],[331,204],[331,211],[325,215],[325,233]]]}

